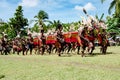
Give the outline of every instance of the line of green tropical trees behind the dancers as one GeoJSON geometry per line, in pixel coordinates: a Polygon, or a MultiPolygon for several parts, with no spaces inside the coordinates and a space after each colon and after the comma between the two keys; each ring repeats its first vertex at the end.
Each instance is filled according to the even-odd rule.
{"type": "MultiPolygon", "coordinates": [[[[103,3],[105,0],[101,0],[103,3]]],[[[111,14],[111,10],[115,8],[115,12],[112,16],[107,16],[105,23],[107,24],[108,32],[115,32],[117,35],[120,34],[120,0],[113,0],[108,9],[108,13],[111,14]]],[[[102,20],[104,14],[100,18],[96,15],[97,20],[102,20]]],[[[14,16],[9,19],[8,22],[4,22],[0,19],[0,33],[7,33],[9,38],[14,38],[17,36],[18,32],[21,32],[21,36],[27,35],[27,29],[29,24],[34,22],[33,27],[30,28],[31,31],[40,32],[40,28],[43,28],[45,32],[48,30],[56,29],[58,24],[62,24],[60,20],[49,20],[49,15],[44,10],[40,10],[37,15],[34,16],[34,20],[28,21],[23,15],[22,6],[18,6],[14,16]],[[46,24],[47,23],[47,24],[46,24]]],[[[81,21],[63,23],[64,31],[67,32],[70,28],[77,30],[81,25],[81,21]]]]}

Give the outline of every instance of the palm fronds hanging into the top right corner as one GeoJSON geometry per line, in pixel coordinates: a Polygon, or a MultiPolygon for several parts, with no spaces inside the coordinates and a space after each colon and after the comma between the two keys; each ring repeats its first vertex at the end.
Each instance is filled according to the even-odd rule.
{"type": "MultiPolygon", "coordinates": [[[[106,0],[101,0],[103,3],[106,0]]],[[[108,13],[111,14],[111,10],[115,8],[115,16],[120,17],[120,0],[113,0],[110,4],[110,7],[108,9],[108,13]]]]}

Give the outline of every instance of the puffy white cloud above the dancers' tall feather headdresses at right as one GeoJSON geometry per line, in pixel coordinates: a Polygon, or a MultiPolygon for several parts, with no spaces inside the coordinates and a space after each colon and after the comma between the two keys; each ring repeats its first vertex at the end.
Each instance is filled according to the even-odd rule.
{"type": "Polygon", "coordinates": [[[90,3],[90,2],[87,3],[87,4],[84,5],[84,6],[76,5],[76,6],[74,7],[75,10],[82,10],[83,8],[85,8],[87,11],[91,11],[91,10],[95,10],[95,9],[96,9],[96,7],[93,6],[93,4],[90,3]]]}

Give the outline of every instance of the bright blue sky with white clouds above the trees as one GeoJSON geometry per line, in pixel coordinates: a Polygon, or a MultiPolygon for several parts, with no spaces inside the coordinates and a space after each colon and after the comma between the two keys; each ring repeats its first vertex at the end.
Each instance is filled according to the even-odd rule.
{"type": "Polygon", "coordinates": [[[23,14],[28,20],[33,20],[39,10],[44,10],[49,15],[49,20],[60,20],[70,23],[81,20],[86,16],[82,9],[85,8],[89,15],[100,17],[102,13],[108,15],[108,8],[112,0],[103,4],[100,0],[0,0],[0,18],[7,22],[14,17],[18,5],[23,6],[23,14]]]}

